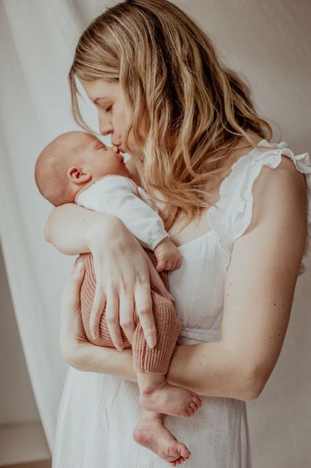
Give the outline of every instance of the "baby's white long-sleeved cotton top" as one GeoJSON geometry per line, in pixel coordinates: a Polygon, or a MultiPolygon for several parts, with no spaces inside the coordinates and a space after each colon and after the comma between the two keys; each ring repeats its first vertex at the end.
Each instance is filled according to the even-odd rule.
{"type": "Polygon", "coordinates": [[[123,175],[105,175],[76,196],[77,204],[120,218],[143,247],[154,250],[168,236],[163,220],[149,206],[144,188],[123,175]],[[142,199],[140,199],[140,197],[142,199]]]}

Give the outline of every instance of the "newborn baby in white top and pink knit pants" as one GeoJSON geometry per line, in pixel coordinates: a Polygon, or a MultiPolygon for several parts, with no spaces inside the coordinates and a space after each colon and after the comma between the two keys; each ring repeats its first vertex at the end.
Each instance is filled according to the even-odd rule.
{"type": "MultiPolygon", "coordinates": [[[[167,273],[164,270],[180,267],[180,253],[164,230],[163,220],[155,211],[157,207],[146,191],[135,184],[124,157],[92,134],[68,132],[55,138],[40,153],[35,178],[40,193],[53,205],[71,202],[91,210],[114,214],[145,248],[159,271],[167,294],[151,284],[152,310],[157,328],[157,344],[152,349],[144,338],[136,308],[133,312],[136,326],[133,345],[121,329],[124,347],[133,347],[139,403],[144,408],[139,419],[144,418],[144,428],[148,432],[146,420],[152,419],[152,412],[180,417],[193,415],[202,404],[200,397],[193,391],[168,384],[165,378],[181,325],[168,292],[167,273]],[[148,418],[146,412],[150,412],[148,418]]],[[[81,286],[81,316],[87,339],[95,345],[115,347],[109,335],[105,309],[100,319],[99,336],[91,333],[90,315],[96,286],[92,254],[81,254],[78,260],[85,265],[85,278],[81,286]]],[[[118,349],[123,349],[123,345],[120,343],[118,349]]],[[[134,437],[135,441],[161,454],[162,458],[164,452],[170,452],[170,460],[173,454],[176,460],[180,456],[189,458],[187,447],[176,439],[170,440],[170,446],[164,450],[159,441],[153,445],[146,443],[139,430],[134,431],[134,437]],[[157,449],[154,449],[155,445],[157,449]]]]}

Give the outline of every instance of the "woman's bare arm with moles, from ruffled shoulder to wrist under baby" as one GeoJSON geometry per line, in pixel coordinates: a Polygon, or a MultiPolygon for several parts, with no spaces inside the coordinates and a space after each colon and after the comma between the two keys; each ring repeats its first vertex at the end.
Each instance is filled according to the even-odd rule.
{"type": "MultiPolygon", "coordinates": [[[[255,399],[282,349],[306,243],[306,182],[284,157],[277,169],[262,168],[253,195],[252,223],[235,241],[226,275],[221,339],[176,347],[167,374],[199,395],[255,399]]],[[[137,382],[131,349],[83,343],[64,358],[137,382]]]]}

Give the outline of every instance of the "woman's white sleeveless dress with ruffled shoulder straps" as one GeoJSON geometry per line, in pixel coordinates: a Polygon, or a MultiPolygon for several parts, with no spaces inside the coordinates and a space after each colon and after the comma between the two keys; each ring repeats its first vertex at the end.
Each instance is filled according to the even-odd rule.
{"type": "MultiPolygon", "coordinates": [[[[286,143],[260,145],[231,167],[216,206],[207,211],[211,231],[179,247],[182,267],[169,273],[176,312],[182,323],[178,345],[220,338],[224,281],[234,240],[252,217],[252,185],[265,164],[278,167],[287,156],[308,184],[308,238],[311,256],[311,163],[308,153],[294,156],[286,143]]],[[[167,468],[170,466],[133,440],[139,412],[137,384],[70,367],[59,406],[53,468],[167,468]]],[[[189,447],[187,468],[251,468],[245,402],[202,396],[202,408],[189,419],[165,417],[165,426],[189,447]]],[[[182,464],[183,465],[183,464],[182,464]]]]}

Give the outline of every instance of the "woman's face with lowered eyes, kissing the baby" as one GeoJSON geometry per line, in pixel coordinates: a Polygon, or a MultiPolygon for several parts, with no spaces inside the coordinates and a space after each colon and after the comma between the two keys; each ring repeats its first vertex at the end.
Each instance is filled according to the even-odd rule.
{"type": "MultiPolygon", "coordinates": [[[[111,135],[112,145],[118,147],[119,151],[124,153],[122,131],[124,129],[126,105],[120,84],[109,82],[103,78],[92,81],[80,78],[80,81],[87,96],[97,108],[100,134],[111,135]]],[[[142,148],[137,145],[131,133],[129,134],[128,145],[131,148],[131,153],[135,153],[137,158],[142,158],[142,148]]]]}

